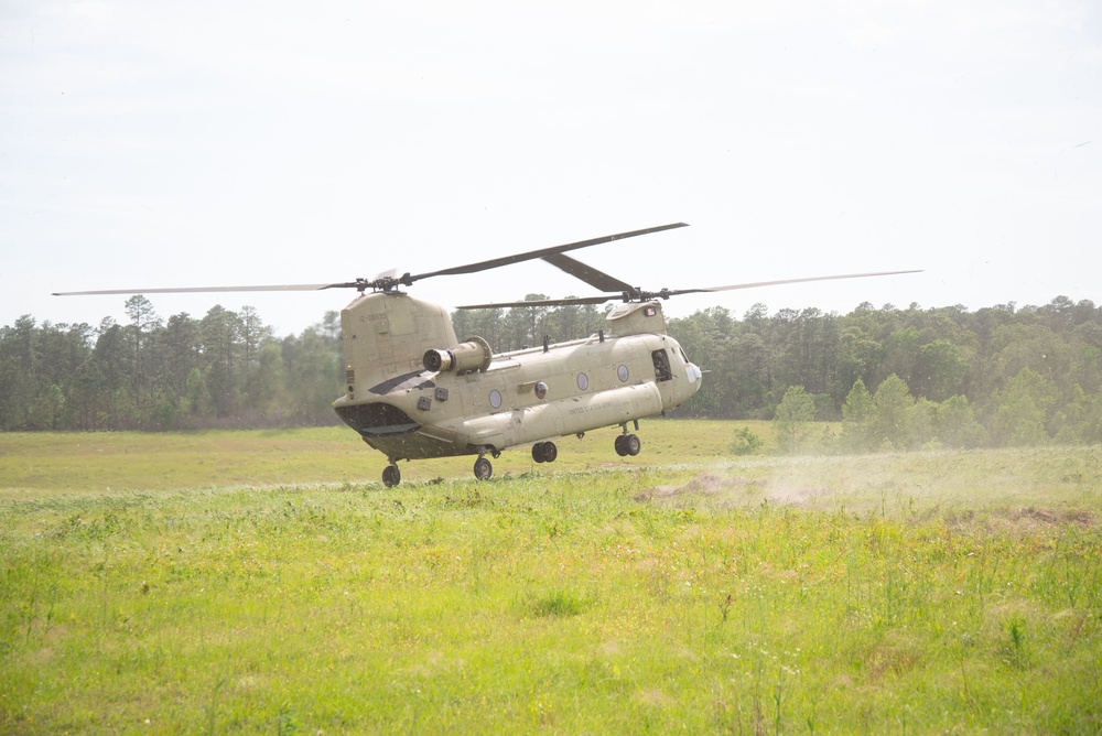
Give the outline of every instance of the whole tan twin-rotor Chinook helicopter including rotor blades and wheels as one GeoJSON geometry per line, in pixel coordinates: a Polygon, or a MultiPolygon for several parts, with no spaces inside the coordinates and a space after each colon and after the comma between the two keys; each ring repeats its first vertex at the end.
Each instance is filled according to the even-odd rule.
{"type": "Polygon", "coordinates": [[[198,286],[182,289],[63,292],[56,295],[171,292],[312,291],[356,289],[341,312],[346,393],[333,402],[337,415],[389,465],[388,487],[401,481],[399,461],[477,455],[475,477],[487,479],[509,447],[534,443],[532,459],[551,463],[554,440],[619,426],[615,451],[639,454],[639,420],[662,414],[688,401],[700,388],[702,371],[666,333],[658,300],[680,294],[753,286],[914,273],[887,271],[786,279],[705,289],[650,292],[633,286],[565,253],[684,227],[673,223],[642,230],[581,240],[440,271],[383,275],[345,283],[276,286],[198,286]],[[602,293],[547,301],[469,304],[460,309],[564,306],[622,302],[605,317],[605,327],[584,339],[495,354],[482,337],[460,342],[442,306],[410,296],[402,286],[432,277],[476,273],[521,261],[542,259],[602,293]]]}

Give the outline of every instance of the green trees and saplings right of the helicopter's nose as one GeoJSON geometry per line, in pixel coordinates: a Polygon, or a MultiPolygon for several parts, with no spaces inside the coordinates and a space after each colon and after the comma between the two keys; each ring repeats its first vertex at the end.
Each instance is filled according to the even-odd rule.
{"type": "Polygon", "coordinates": [[[1102,309],[1090,301],[846,315],[757,304],[669,331],[711,370],[683,411],[774,419],[782,444],[811,441],[812,420],[841,421],[833,443],[846,450],[1102,442],[1102,309]]]}

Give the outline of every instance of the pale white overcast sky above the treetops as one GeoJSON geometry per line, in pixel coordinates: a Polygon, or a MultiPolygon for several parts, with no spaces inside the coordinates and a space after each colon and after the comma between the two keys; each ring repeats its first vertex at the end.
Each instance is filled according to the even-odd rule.
{"type": "MultiPolygon", "coordinates": [[[[126,322],[54,291],[420,273],[577,251],[736,316],[860,302],[1102,304],[1102,4],[0,4],[0,325],[126,322]]],[[[592,290],[534,262],[419,282],[449,306],[592,290]]],[[[354,292],[253,305],[298,333],[354,292]]]]}

